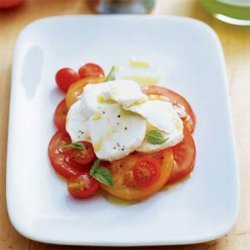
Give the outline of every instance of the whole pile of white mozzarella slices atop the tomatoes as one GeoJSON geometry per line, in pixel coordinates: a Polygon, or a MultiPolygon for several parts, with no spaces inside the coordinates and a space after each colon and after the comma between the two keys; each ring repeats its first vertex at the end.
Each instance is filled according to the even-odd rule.
{"type": "Polygon", "coordinates": [[[73,142],[90,141],[98,158],[113,161],[137,150],[150,153],[183,139],[183,123],[172,104],[143,94],[134,81],[88,84],[81,99],[71,106],[66,130],[73,142]],[[148,141],[157,130],[162,144],[148,141]]]}

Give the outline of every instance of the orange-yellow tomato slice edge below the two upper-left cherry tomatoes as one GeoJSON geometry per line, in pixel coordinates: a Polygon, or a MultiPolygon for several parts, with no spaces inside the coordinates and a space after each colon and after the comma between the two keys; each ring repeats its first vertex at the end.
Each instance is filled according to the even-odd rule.
{"type": "Polygon", "coordinates": [[[87,85],[88,83],[99,83],[103,81],[104,81],[104,78],[102,77],[88,77],[88,78],[80,79],[77,82],[73,83],[69,87],[69,90],[66,95],[67,107],[70,108],[70,106],[79,99],[79,97],[81,96],[83,92],[83,88],[85,87],[85,85],[87,85]]]}

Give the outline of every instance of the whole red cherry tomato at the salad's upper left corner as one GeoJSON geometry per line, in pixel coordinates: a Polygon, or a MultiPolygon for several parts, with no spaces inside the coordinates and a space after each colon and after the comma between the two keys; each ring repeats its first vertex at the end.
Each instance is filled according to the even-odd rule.
{"type": "Polygon", "coordinates": [[[56,83],[59,89],[67,92],[69,86],[79,80],[78,73],[70,68],[63,68],[56,73],[56,83]]]}

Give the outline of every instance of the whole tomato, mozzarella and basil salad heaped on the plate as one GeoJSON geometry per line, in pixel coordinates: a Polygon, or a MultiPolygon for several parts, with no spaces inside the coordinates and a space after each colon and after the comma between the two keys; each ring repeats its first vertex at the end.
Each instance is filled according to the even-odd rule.
{"type": "Polygon", "coordinates": [[[161,86],[105,76],[87,63],[63,68],[65,98],[54,113],[48,154],[75,198],[106,193],[141,201],[188,176],[195,165],[195,114],[180,94],[161,86]]]}

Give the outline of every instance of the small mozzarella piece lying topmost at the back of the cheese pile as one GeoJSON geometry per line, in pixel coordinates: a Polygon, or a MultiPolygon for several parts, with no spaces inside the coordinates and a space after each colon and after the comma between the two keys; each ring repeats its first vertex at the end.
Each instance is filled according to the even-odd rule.
{"type": "Polygon", "coordinates": [[[140,85],[132,80],[110,82],[111,99],[125,107],[144,101],[147,96],[142,93],[140,85]]]}

